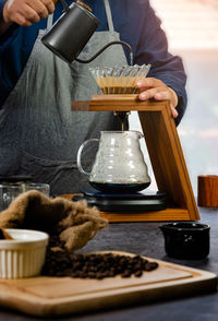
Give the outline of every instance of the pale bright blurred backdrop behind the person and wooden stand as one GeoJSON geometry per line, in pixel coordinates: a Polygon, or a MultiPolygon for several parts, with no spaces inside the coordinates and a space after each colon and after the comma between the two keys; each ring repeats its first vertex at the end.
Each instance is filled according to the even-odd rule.
{"type": "MultiPolygon", "coordinates": [[[[168,36],[169,51],[182,57],[187,74],[187,109],[178,132],[193,191],[197,176],[218,175],[218,0],[150,0],[168,36]]],[[[130,127],[141,130],[136,112],[130,127]]],[[[156,182],[145,143],[142,150],[156,182]]]]}

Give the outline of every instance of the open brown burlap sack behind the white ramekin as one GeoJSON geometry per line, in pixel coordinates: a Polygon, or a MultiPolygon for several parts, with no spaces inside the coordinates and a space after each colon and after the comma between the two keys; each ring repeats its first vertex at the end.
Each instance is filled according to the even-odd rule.
{"type": "Polygon", "coordinates": [[[0,227],[37,229],[50,235],[57,231],[63,247],[71,251],[85,246],[107,224],[86,201],[50,199],[35,190],[22,193],[0,213],[0,227]]]}

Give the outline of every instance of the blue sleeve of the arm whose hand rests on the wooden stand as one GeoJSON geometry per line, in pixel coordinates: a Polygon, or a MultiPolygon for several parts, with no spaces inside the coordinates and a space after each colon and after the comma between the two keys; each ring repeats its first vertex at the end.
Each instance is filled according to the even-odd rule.
{"type": "Polygon", "coordinates": [[[144,19],[138,31],[141,36],[135,52],[135,63],[150,63],[152,69],[148,76],[161,80],[177,93],[179,116],[175,124],[179,124],[186,109],[186,74],[183,62],[180,57],[169,54],[167,37],[161,28],[160,20],[148,1],[142,2],[144,2],[144,19]]]}

